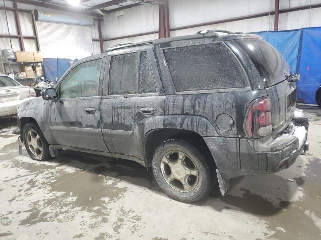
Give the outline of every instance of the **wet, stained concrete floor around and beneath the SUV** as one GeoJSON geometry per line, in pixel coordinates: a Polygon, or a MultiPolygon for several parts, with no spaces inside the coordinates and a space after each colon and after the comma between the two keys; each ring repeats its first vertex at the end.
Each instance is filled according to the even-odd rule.
{"type": "Polygon", "coordinates": [[[307,155],[277,174],[235,178],[225,197],[215,191],[196,204],[168,198],[135,162],[21,156],[15,121],[2,121],[0,238],[321,239],[321,111],[305,111],[307,155]]]}

